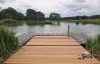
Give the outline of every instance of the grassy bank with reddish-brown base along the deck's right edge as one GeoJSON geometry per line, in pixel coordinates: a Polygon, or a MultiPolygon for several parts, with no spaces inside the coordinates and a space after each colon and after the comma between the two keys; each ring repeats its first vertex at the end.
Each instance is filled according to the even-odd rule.
{"type": "Polygon", "coordinates": [[[96,37],[90,37],[87,39],[86,49],[100,60],[100,34],[96,37]]]}

